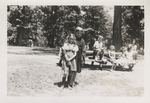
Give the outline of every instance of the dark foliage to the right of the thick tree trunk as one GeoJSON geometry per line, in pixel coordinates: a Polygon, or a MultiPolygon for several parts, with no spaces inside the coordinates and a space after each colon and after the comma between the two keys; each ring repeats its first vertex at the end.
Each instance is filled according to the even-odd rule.
{"type": "Polygon", "coordinates": [[[139,47],[144,46],[144,7],[123,6],[122,8],[122,36],[123,42],[137,41],[139,47]]]}

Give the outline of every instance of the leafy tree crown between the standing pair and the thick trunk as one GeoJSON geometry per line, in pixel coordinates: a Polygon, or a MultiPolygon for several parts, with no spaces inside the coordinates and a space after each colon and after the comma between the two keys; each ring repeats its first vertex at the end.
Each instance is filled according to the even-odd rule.
{"type": "Polygon", "coordinates": [[[109,15],[104,11],[103,6],[82,6],[82,10],[85,12],[84,18],[84,28],[91,28],[93,32],[92,37],[97,35],[102,35],[106,38],[110,35],[109,28],[112,28],[112,23],[109,15]]]}

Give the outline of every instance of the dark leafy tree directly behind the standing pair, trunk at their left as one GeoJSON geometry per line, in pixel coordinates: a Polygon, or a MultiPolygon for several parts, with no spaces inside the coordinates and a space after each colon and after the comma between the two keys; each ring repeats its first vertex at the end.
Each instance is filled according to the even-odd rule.
{"type": "Polygon", "coordinates": [[[78,6],[42,6],[45,14],[43,19],[44,30],[48,38],[48,46],[54,47],[62,32],[72,32],[77,26],[77,18],[79,13],[78,6]],[[56,41],[55,41],[56,39],[56,41]]]}

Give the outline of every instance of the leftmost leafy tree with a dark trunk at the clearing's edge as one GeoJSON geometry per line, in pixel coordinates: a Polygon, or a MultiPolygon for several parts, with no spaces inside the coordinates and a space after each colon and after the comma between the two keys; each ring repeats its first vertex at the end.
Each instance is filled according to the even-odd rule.
{"type": "MultiPolygon", "coordinates": [[[[26,38],[30,31],[26,32],[29,29],[31,22],[31,13],[29,6],[8,6],[8,22],[11,24],[10,28],[16,28],[9,35],[14,35],[17,45],[23,44],[23,39],[26,38]]],[[[8,29],[8,30],[9,30],[8,29]]]]}

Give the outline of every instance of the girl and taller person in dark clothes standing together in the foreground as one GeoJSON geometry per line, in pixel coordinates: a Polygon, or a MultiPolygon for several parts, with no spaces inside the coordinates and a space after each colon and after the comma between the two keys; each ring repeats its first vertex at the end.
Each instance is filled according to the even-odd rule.
{"type": "Polygon", "coordinates": [[[64,70],[63,83],[65,87],[74,87],[76,73],[81,72],[81,64],[84,60],[83,52],[85,48],[85,42],[82,37],[82,28],[78,27],[75,31],[75,36],[70,34],[68,36],[68,42],[64,43],[62,52],[62,69],[64,70]]]}

